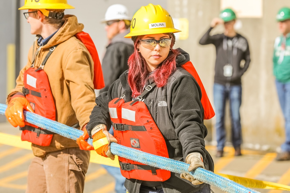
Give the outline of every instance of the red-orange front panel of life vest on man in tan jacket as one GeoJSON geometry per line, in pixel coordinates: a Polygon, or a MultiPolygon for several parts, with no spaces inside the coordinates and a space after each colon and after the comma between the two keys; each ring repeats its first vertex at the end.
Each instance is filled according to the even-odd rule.
{"type": "MultiPolygon", "coordinates": [[[[23,94],[35,113],[55,121],[55,103],[45,71],[36,68],[27,69],[23,74],[23,83],[23,94]]],[[[40,146],[50,145],[52,132],[27,122],[25,124],[26,126],[21,128],[22,141],[30,141],[40,146]]]]}

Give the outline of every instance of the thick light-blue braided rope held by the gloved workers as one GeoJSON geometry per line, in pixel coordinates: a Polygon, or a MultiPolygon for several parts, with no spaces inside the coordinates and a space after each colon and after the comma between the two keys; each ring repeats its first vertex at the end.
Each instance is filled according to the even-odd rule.
{"type": "MultiPolygon", "coordinates": [[[[7,105],[0,104],[0,114],[4,115],[6,108],[7,105]]],[[[41,128],[47,129],[49,131],[52,131],[54,133],[57,133],[59,135],[62,135],[64,137],[67,137],[69,139],[76,140],[80,135],[83,135],[84,133],[81,130],[69,127],[56,121],[49,120],[35,113],[24,111],[24,115],[26,117],[27,122],[37,125],[41,128]]],[[[88,143],[92,145],[93,144],[92,139],[88,139],[88,143]]],[[[176,161],[173,159],[160,157],[157,155],[152,155],[116,143],[112,143],[110,149],[114,155],[138,161],[146,165],[154,166],[164,170],[169,170],[171,172],[179,174],[184,172],[189,173],[187,170],[189,164],[181,161],[176,161]]],[[[203,168],[197,168],[195,171],[190,173],[196,179],[208,183],[210,185],[213,185],[229,193],[258,193],[255,190],[246,188],[238,183],[235,183],[234,181],[221,177],[203,168]]]]}

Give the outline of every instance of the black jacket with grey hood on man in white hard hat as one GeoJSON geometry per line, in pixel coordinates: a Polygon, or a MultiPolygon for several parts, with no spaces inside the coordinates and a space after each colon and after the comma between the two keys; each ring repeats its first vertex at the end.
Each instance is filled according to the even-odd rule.
{"type": "Polygon", "coordinates": [[[130,38],[124,38],[130,30],[117,34],[107,46],[105,56],[102,61],[105,87],[100,93],[108,91],[111,84],[117,80],[121,74],[128,70],[128,58],[134,51],[134,44],[130,38]]]}

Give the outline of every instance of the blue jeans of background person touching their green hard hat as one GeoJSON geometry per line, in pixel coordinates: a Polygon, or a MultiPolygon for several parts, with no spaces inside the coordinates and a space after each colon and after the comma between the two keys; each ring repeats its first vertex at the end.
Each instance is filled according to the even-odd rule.
{"type": "Polygon", "coordinates": [[[215,104],[216,137],[218,150],[223,150],[226,143],[226,130],[224,128],[224,114],[226,100],[230,102],[232,143],[234,148],[242,144],[242,130],[240,118],[240,106],[242,103],[242,85],[222,85],[214,83],[213,100],[215,104]]]}

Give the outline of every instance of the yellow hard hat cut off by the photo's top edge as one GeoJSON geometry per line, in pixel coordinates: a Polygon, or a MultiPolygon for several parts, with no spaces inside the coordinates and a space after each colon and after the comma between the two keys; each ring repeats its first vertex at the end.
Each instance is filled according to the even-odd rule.
{"type": "Polygon", "coordinates": [[[25,0],[22,9],[74,9],[67,0],[25,0]]]}

